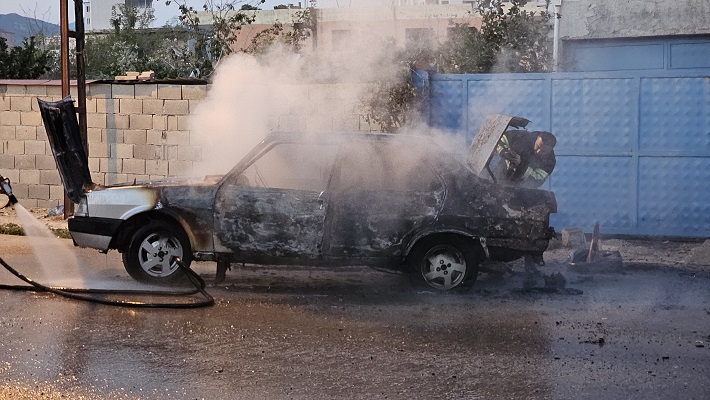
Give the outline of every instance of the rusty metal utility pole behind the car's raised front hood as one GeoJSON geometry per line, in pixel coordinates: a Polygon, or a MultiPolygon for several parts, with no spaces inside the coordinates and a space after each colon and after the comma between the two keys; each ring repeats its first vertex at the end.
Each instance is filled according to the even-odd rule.
{"type": "MultiPolygon", "coordinates": [[[[77,89],[77,113],[79,120],[79,132],[84,151],[89,154],[87,143],[86,127],[86,64],[84,59],[84,4],[82,0],[74,0],[74,30],[69,30],[69,0],[59,0],[59,40],[60,58],[62,70],[62,97],[71,94],[69,86],[69,38],[75,41],[76,57],[76,89],[77,89]]],[[[64,193],[64,219],[69,218],[74,213],[74,203],[71,202],[66,192],[64,193]]]]}

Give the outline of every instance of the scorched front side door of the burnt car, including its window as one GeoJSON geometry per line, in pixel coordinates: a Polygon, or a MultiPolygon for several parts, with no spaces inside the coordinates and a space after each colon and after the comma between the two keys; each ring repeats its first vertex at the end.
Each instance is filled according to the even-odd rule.
{"type": "Polygon", "coordinates": [[[226,177],[215,198],[217,251],[252,262],[322,255],[336,146],[277,143],[226,177]]]}

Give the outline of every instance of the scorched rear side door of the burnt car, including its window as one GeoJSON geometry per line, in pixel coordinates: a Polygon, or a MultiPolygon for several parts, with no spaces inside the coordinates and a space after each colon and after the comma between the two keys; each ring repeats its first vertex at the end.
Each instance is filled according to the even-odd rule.
{"type": "Polygon", "coordinates": [[[336,166],[326,247],[334,257],[392,258],[441,211],[444,184],[427,150],[405,140],[363,140],[336,166]]]}

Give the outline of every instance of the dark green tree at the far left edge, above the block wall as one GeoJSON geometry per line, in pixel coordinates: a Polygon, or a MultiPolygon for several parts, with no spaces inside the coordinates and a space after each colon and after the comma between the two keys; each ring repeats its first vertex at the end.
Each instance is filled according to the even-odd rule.
{"type": "Polygon", "coordinates": [[[52,54],[41,50],[34,36],[13,48],[8,48],[7,40],[0,37],[0,79],[37,79],[51,66],[52,54]]]}

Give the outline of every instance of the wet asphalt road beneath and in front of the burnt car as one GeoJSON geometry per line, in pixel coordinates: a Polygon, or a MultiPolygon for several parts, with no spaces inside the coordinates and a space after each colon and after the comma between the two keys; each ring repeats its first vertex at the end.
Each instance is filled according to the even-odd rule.
{"type": "MultiPolygon", "coordinates": [[[[17,250],[22,239],[0,240],[0,257],[30,277],[140,288],[115,252],[48,272],[17,250]]],[[[212,263],[195,269],[214,275],[212,263]]],[[[516,266],[457,295],[366,267],[246,266],[201,309],[0,291],[0,398],[710,398],[707,274],[543,271],[582,293],[524,291],[516,266]]],[[[2,271],[0,283],[20,282],[2,271]]]]}

